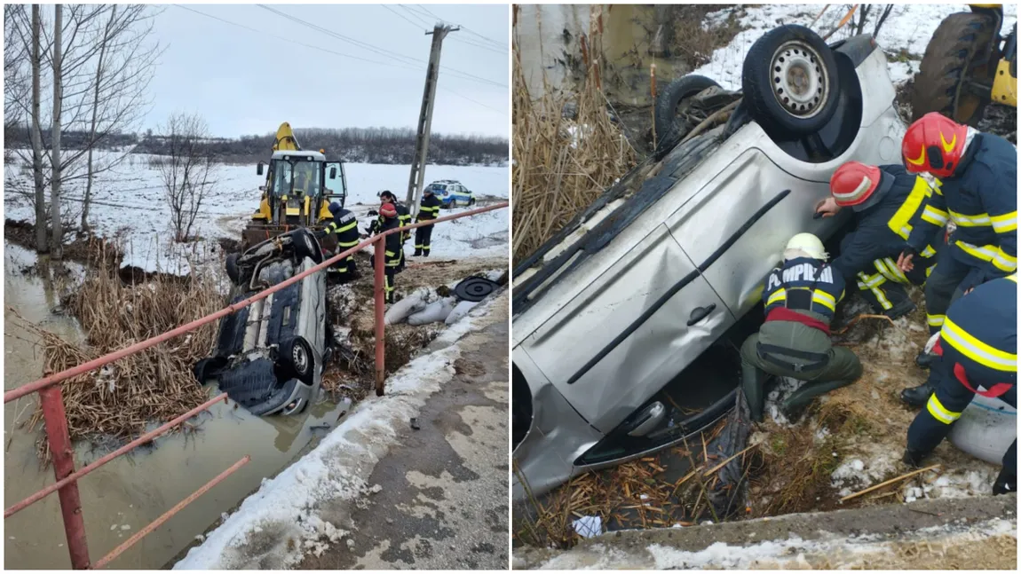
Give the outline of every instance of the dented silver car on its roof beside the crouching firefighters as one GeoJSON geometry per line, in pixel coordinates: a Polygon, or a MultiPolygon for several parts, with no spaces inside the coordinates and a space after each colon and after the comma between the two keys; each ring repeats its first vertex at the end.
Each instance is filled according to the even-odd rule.
{"type": "Polygon", "coordinates": [[[827,45],[773,30],[748,51],[740,93],[722,96],[702,76],[671,84],[657,103],[668,145],[515,269],[515,499],[523,482],[541,494],[723,417],[785,243],[835,240],[847,222],[813,217],[830,175],[901,161],[905,125],[869,36],[827,45]],[[685,119],[728,105],[714,127],[685,119]]]}

